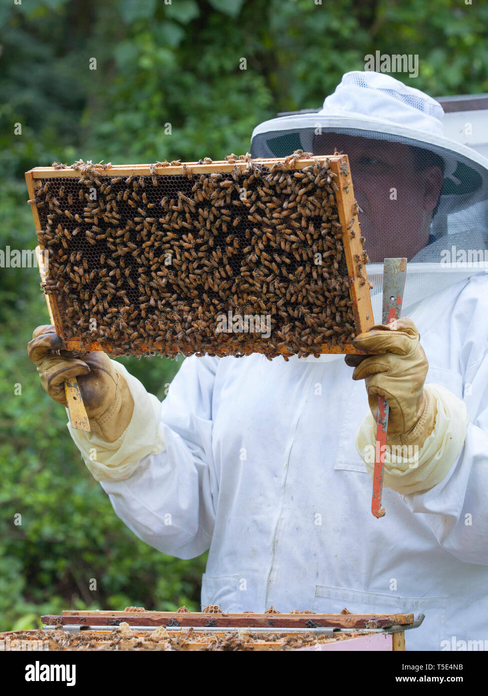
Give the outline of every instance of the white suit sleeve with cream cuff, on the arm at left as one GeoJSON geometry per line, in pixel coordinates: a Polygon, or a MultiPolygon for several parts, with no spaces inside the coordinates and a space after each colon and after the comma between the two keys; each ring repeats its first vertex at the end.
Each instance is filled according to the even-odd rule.
{"type": "Polygon", "coordinates": [[[117,443],[102,443],[111,449],[109,454],[97,452],[96,463],[87,461],[86,443],[79,444],[86,434],[77,436],[88,468],[120,519],[139,539],[180,558],[206,551],[214,528],[218,490],[212,394],[217,364],[218,358],[187,358],[162,403],[123,368],[135,404],[127,431],[117,443]]]}

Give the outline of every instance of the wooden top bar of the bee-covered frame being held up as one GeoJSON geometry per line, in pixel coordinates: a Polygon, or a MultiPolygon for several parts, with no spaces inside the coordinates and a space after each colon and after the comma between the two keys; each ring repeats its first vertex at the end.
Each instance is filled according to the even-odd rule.
{"type": "MultiPolygon", "coordinates": [[[[310,166],[310,163],[314,159],[318,159],[323,163],[326,159],[329,162],[338,161],[339,163],[344,160],[347,155],[317,155],[317,157],[302,157],[295,161],[290,162],[290,169],[302,169],[306,166],[310,166]]],[[[257,157],[253,159],[253,164],[263,164],[264,166],[272,166],[277,162],[283,162],[284,157],[274,157],[270,159],[264,159],[257,157]]],[[[191,172],[194,174],[209,174],[214,171],[219,172],[230,172],[233,171],[235,166],[241,169],[245,169],[248,162],[245,160],[236,160],[235,162],[228,162],[226,159],[215,160],[209,162],[208,164],[198,164],[198,162],[182,162],[180,165],[168,165],[168,166],[156,166],[155,164],[116,164],[111,165],[109,168],[104,169],[103,164],[100,166],[93,164],[97,168],[100,176],[120,176],[129,174],[139,174],[140,176],[149,176],[152,173],[158,175],[177,175],[184,174],[184,168],[191,167],[191,172]]],[[[73,169],[71,166],[65,169],[58,169],[56,167],[33,167],[26,172],[26,177],[32,179],[46,179],[53,177],[77,177],[80,176],[83,169],[73,169]]]]}

